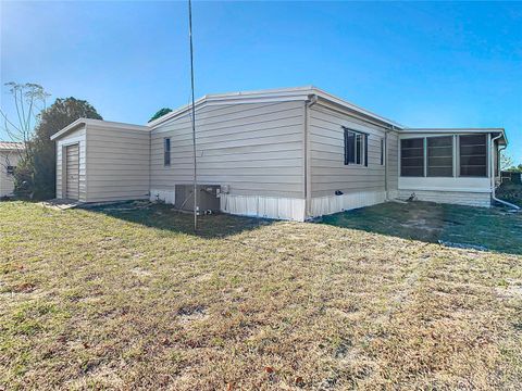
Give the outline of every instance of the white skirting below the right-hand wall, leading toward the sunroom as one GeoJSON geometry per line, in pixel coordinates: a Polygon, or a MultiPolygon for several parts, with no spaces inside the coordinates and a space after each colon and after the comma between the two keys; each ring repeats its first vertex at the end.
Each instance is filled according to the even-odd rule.
{"type": "Polygon", "coordinates": [[[361,191],[352,194],[312,198],[312,217],[375,205],[386,200],[384,191],[361,191]]]}

